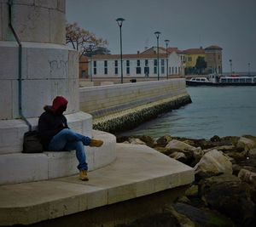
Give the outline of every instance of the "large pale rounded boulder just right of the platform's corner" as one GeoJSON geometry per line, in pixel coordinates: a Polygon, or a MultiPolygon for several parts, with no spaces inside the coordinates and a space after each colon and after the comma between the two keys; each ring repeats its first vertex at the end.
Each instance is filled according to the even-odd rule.
{"type": "Polygon", "coordinates": [[[220,173],[232,174],[232,163],[222,151],[210,150],[202,156],[195,167],[195,177],[204,179],[220,173]]]}

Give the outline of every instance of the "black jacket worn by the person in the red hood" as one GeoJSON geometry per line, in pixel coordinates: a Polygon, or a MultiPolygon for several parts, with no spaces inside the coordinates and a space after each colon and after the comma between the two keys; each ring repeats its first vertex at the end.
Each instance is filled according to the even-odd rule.
{"type": "Polygon", "coordinates": [[[38,120],[38,134],[44,150],[48,150],[50,140],[63,128],[68,128],[66,116],[51,111],[51,106],[46,105],[38,120]]]}

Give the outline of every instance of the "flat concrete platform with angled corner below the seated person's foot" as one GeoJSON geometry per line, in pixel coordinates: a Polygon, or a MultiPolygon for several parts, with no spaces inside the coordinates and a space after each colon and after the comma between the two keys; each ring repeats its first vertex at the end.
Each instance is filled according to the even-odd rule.
{"type": "Polygon", "coordinates": [[[194,170],[145,145],[117,144],[117,158],[89,173],[0,186],[0,225],[33,224],[190,184],[194,170]]]}

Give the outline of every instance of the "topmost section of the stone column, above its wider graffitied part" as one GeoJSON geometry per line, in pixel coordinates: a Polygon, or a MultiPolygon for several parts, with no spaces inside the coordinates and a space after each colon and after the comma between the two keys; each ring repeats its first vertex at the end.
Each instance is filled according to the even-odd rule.
{"type": "MultiPolygon", "coordinates": [[[[0,41],[15,41],[8,29],[8,2],[0,1],[0,41]]],[[[12,20],[23,42],[65,44],[63,0],[14,0],[12,20]]]]}

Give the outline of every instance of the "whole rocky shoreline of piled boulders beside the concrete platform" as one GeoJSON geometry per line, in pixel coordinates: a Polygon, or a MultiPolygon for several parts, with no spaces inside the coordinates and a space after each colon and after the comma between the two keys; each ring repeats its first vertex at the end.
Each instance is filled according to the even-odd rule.
{"type": "Polygon", "coordinates": [[[148,145],[195,169],[195,182],[164,213],[120,226],[256,226],[256,137],[117,138],[148,145]],[[149,225],[148,225],[149,224],[149,225]]]}

